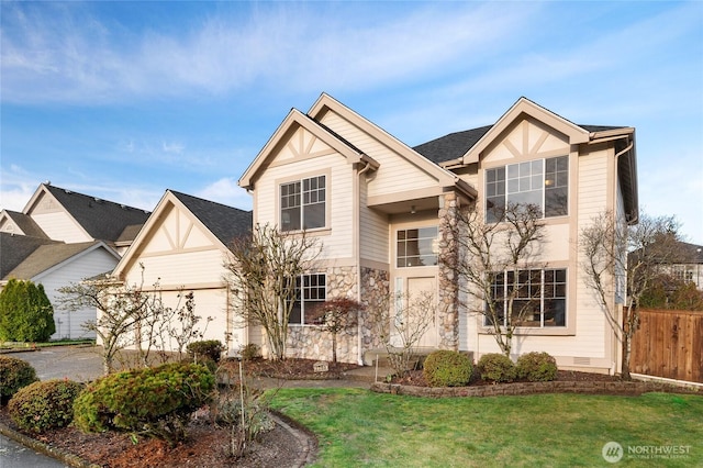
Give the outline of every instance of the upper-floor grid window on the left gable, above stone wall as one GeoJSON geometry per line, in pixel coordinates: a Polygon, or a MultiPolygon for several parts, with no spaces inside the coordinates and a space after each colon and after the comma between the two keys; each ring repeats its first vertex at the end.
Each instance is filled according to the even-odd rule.
{"type": "Polygon", "coordinates": [[[281,231],[325,226],[326,176],[281,183],[281,231]]]}

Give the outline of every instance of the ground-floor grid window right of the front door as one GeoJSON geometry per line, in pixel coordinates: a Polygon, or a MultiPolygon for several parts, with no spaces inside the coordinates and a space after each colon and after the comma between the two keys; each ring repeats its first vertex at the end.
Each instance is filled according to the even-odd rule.
{"type": "MultiPolygon", "coordinates": [[[[506,311],[513,301],[511,322],[516,326],[566,326],[567,270],[529,269],[492,275],[491,296],[495,315],[507,325],[506,311]]],[[[487,304],[487,311],[489,310],[487,304]]],[[[492,323],[487,312],[484,325],[492,323]]]]}

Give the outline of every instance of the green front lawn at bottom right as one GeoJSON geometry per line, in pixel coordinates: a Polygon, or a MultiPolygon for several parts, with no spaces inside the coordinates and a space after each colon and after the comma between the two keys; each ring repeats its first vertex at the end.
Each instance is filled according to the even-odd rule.
{"type": "MultiPolygon", "coordinates": [[[[316,467],[703,466],[703,398],[538,394],[426,399],[360,389],[281,389],[272,408],[320,442],[316,467]],[[641,446],[688,446],[681,458],[635,458],[641,446]]],[[[677,448],[680,449],[680,448],[677,448]]]]}

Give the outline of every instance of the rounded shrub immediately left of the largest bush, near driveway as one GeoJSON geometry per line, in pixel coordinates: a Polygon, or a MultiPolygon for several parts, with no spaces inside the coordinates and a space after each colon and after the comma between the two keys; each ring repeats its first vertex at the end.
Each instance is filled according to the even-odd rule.
{"type": "Polygon", "coordinates": [[[29,385],[10,400],[12,421],[26,431],[43,433],[74,420],[74,400],[83,385],[72,380],[46,380],[29,385]]]}

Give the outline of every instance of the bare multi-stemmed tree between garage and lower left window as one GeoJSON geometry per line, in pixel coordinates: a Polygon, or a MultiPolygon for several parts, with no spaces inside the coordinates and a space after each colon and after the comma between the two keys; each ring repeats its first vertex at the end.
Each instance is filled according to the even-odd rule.
{"type": "Polygon", "coordinates": [[[286,357],[288,320],[298,300],[297,279],[314,268],[322,246],[305,232],[280,232],[266,224],[232,242],[226,280],[233,308],[261,325],[274,359],[286,357]]]}

